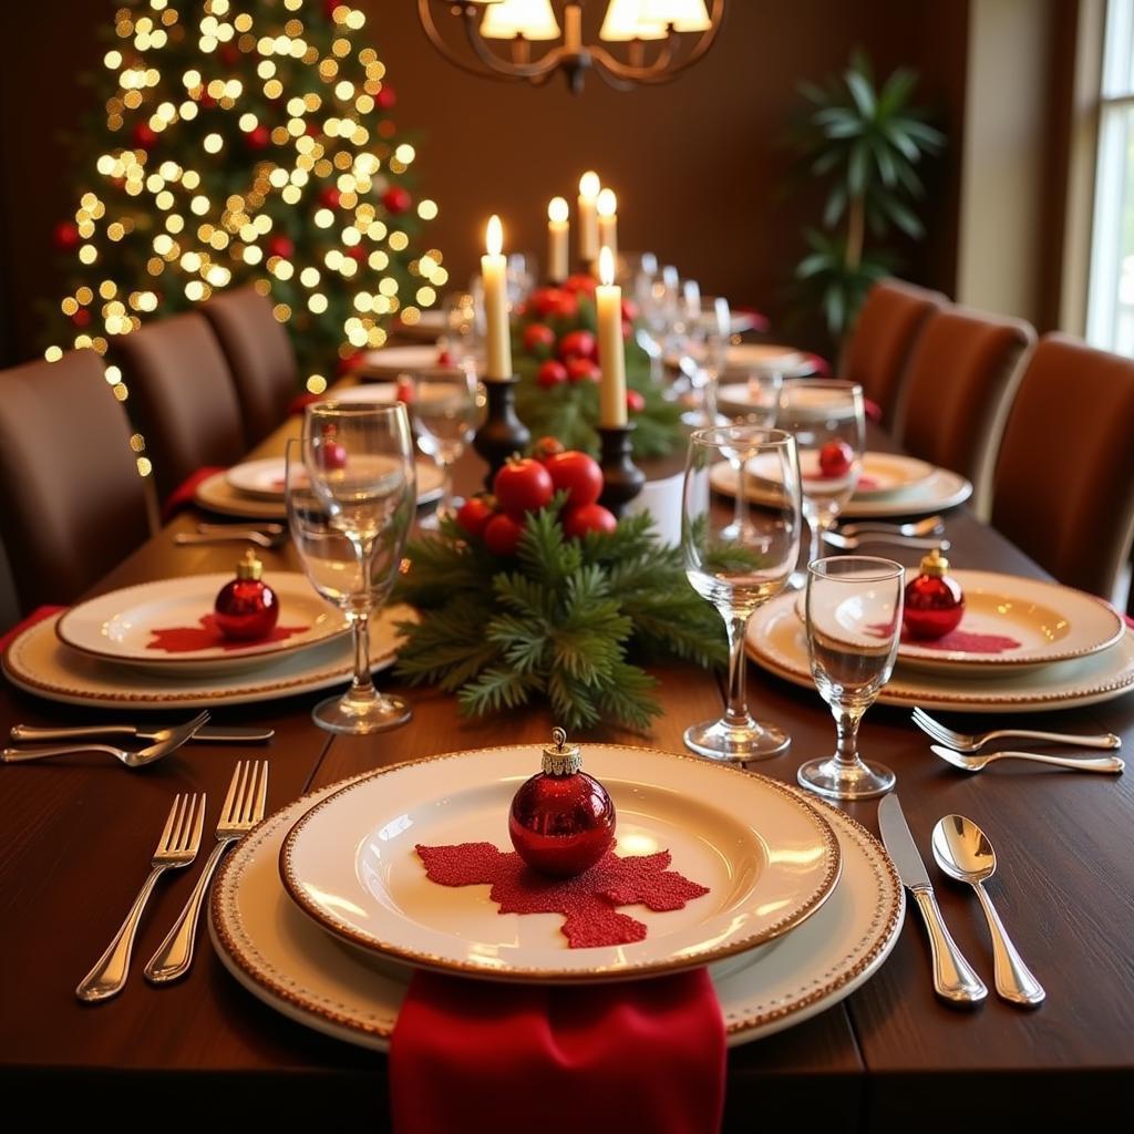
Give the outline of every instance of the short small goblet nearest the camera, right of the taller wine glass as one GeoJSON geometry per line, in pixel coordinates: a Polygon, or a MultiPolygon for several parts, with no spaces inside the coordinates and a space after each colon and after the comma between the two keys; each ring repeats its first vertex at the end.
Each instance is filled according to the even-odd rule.
{"type": "Polygon", "coordinates": [[[858,755],[858,722],[894,672],[905,570],[892,559],[832,556],[807,567],[811,676],[838,728],[833,756],[810,760],[799,782],[831,799],[870,799],[894,787],[882,764],[858,755]]]}

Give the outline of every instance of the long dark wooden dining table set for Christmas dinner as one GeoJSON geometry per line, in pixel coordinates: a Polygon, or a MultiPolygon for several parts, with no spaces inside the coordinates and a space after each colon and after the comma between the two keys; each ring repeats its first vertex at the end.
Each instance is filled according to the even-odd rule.
{"type": "MultiPolygon", "coordinates": [[[[278,456],[291,418],[249,457],[278,456]]],[[[898,451],[878,426],[869,447],[898,451]]],[[[676,467],[676,466],[675,466],[676,467]]],[[[458,489],[480,486],[483,466],[466,454],[458,489]]],[[[731,507],[719,501],[717,507],[731,507]]],[[[1039,505],[1038,505],[1039,506],[1039,505]]],[[[127,556],[90,592],[172,576],[223,572],[239,543],[179,547],[178,532],[203,518],[188,508],[127,556]]],[[[946,514],[957,567],[1046,578],[1043,570],[968,507],[946,514]]],[[[920,551],[864,549],[916,565],[920,551]]],[[[299,570],[294,549],[261,550],[265,578],[299,570]]],[[[720,675],[672,662],[651,667],[662,714],[648,734],[602,726],[576,737],[682,752],[692,722],[719,714],[720,675]]],[[[318,1034],[262,1004],[215,956],[205,929],[188,976],[155,988],[141,967],[193,887],[175,872],[142,923],[124,992],[102,1005],[76,999],[79,978],[102,951],[144,873],[145,855],[177,792],[205,792],[213,814],[237,760],[270,760],[268,812],[348,777],[450,751],[547,743],[556,725],[545,704],[476,718],[437,688],[390,671],[376,678],[413,708],[403,727],[335,735],[311,718],[324,694],[218,705],[213,721],[276,730],[263,748],[191,744],[129,771],[84,755],[0,768],[0,1084],[6,1109],[37,1117],[218,1124],[249,1116],[269,1124],[318,1120],[344,1128],[389,1127],[387,1058],[318,1034]],[[25,1111],[26,1105],[29,1111],[25,1111]],[[127,1110],[128,1108],[128,1110],[127,1110]]],[[[792,736],[787,754],[752,771],[795,784],[801,763],[829,754],[835,723],[813,688],[748,663],[754,712],[792,736]]],[[[184,710],[113,719],[179,721],[184,710]]],[[[44,700],[0,682],[0,729],[69,725],[107,711],[44,700]]],[[[1134,694],[1085,708],[993,716],[946,714],[954,727],[1004,725],[1111,731],[1134,746],[1134,694]]],[[[836,1006],[728,1052],[725,1129],[782,1123],[837,1132],[1091,1127],[1127,1111],[1134,1089],[1134,776],[1081,775],[1005,761],[968,775],[931,754],[908,709],[874,705],[861,730],[868,759],[897,773],[897,793],[928,864],[948,926],[989,984],[988,999],[959,1008],[934,996],[928,940],[912,903],[888,959],[836,1006]],[[998,856],[989,883],[1021,954],[1047,989],[1022,1010],[991,991],[992,953],[972,891],[932,862],[930,832],[948,813],[975,820],[998,856]]],[[[533,750],[538,751],[538,750],[533,750]]],[[[584,747],[585,752],[585,747],[584,747]]],[[[844,810],[878,833],[878,801],[844,810]]],[[[206,830],[206,837],[209,831],[206,830]]],[[[789,939],[782,948],[790,948],[789,939]]],[[[648,1058],[646,1053],[628,1053],[648,1058]]],[[[441,1084],[440,1086],[443,1086],[441,1084]]],[[[533,1131],[539,1131],[533,1117],[533,1131]]],[[[585,1128],[585,1127],[581,1127],[585,1128]]],[[[627,1129],[635,1129],[627,1116],[627,1129]]]]}

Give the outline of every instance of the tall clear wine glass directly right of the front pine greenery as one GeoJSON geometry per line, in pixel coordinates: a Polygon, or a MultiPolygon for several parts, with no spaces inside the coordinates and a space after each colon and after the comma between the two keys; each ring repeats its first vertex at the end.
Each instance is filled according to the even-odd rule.
{"type": "Polygon", "coordinates": [[[693,752],[714,760],[767,760],[792,741],[755,721],[745,700],[744,635],[756,607],[779,594],[799,556],[799,459],[781,430],[713,426],[689,438],[682,510],[682,553],[693,589],[728,631],[728,708],[720,720],[685,731],[693,752]],[[738,471],[738,516],[710,502],[709,473],[721,460],[738,471]]]}

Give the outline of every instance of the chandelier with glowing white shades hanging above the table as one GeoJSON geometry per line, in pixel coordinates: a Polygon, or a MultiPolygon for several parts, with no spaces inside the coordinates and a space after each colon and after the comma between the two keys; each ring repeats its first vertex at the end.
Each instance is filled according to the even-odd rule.
{"type": "Polygon", "coordinates": [[[590,70],[620,91],[669,82],[712,45],[725,0],[607,0],[602,43],[583,42],[582,0],[567,0],[558,16],[551,0],[417,0],[417,15],[433,46],[462,70],[534,84],[562,71],[578,94],[590,70]],[[435,17],[439,8],[454,18],[435,17]],[[463,25],[471,59],[447,41],[440,23],[463,25]]]}

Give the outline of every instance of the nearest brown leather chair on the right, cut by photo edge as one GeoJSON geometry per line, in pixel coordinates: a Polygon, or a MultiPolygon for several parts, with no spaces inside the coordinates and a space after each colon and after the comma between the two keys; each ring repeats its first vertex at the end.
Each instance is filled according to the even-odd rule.
{"type": "Polygon", "coordinates": [[[1040,340],[1000,447],[992,524],[1061,583],[1111,596],[1134,536],[1134,361],[1040,340]]]}

